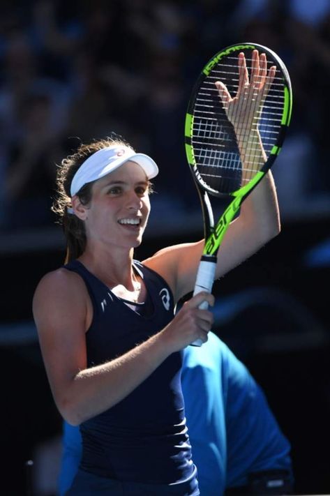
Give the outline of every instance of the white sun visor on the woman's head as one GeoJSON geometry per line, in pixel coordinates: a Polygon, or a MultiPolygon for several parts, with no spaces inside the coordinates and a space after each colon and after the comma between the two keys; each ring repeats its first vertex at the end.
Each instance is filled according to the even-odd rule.
{"type": "Polygon", "coordinates": [[[135,153],[128,146],[113,144],[96,151],[80,165],[71,182],[71,196],[76,195],[85,184],[110,174],[128,160],[140,165],[147,179],[157,176],[158,167],[148,155],[135,153]]]}

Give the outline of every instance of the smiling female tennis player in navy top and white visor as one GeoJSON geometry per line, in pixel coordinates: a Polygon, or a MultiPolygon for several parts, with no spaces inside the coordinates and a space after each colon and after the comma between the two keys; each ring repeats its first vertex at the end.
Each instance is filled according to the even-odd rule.
{"type": "MultiPolygon", "coordinates": [[[[183,348],[207,340],[212,313],[199,306],[213,296],[197,294],[174,316],[194,288],[203,241],[134,260],[157,173],[117,137],[80,145],[59,168],[66,264],[40,280],[33,315],[54,400],[82,433],[70,496],[200,494],[180,373],[183,348]]],[[[227,231],[216,278],[279,229],[268,173],[227,231]]]]}

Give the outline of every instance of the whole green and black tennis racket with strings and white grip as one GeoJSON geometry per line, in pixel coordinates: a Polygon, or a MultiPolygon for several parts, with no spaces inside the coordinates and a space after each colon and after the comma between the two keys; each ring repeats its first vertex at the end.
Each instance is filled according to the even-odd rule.
{"type": "MultiPolygon", "coordinates": [[[[225,232],[278,156],[291,112],[287,68],[262,45],[242,43],[221,50],[197,78],[185,123],[186,156],[204,218],[194,295],[211,292],[225,232]],[[227,200],[216,224],[209,195],[227,200]]],[[[202,340],[192,344],[200,346],[202,340]]]]}

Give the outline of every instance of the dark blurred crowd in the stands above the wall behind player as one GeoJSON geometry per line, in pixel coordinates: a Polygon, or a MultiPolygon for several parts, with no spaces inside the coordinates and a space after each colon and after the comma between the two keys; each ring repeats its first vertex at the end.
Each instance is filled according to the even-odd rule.
{"type": "Polygon", "coordinates": [[[189,209],[190,91],[213,54],[243,41],[277,52],[292,78],[293,121],[275,167],[283,209],[329,198],[329,0],[2,0],[2,232],[52,225],[57,163],[113,131],[160,166],[154,201],[189,209]]]}

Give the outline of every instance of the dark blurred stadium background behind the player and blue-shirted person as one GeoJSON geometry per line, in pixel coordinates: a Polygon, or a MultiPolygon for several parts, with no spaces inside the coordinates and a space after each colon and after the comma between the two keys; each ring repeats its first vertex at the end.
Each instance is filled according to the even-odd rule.
{"type": "MultiPolygon", "coordinates": [[[[56,163],[80,140],[121,133],[160,166],[136,257],[199,239],[202,215],[184,156],[184,112],[206,61],[242,41],[278,52],[292,77],[292,125],[274,166],[283,227],[216,283],[213,331],[264,388],[292,443],[297,493],[330,493],[330,16],[327,1],[318,6],[0,3],[0,494],[27,495],[31,475],[33,496],[54,494],[51,483],[40,482],[45,467],[36,453],[43,446],[52,451],[61,419],[31,300],[40,278],[63,263],[61,230],[50,213],[56,163]]],[[[56,443],[53,448],[46,479],[56,476],[56,443]]]]}

